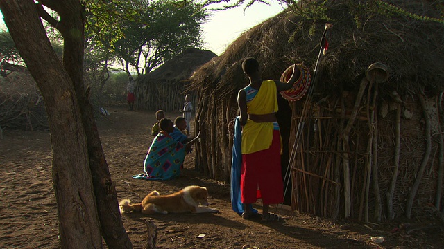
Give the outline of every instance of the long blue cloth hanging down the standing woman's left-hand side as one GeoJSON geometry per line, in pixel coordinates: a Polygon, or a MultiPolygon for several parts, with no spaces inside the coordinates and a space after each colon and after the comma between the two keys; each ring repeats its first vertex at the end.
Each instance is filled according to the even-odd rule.
{"type": "MultiPolygon", "coordinates": [[[[242,127],[239,116],[234,122],[234,142],[231,160],[231,207],[234,212],[242,214],[244,212],[244,204],[241,201],[241,167],[242,167],[242,127]]],[[[251,206],[251,204],[250,204],[251,206]]],[[[257,213],[256,209],[253,209],[257,213]]]]}

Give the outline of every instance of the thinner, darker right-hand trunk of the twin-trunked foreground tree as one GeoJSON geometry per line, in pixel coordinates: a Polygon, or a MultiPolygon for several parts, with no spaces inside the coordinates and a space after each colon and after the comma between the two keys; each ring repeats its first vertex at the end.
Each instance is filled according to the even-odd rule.
{"type": "Polygon", "coordinates": [[[85,93],[83,81],[83,60],[85,43],[85,21],[83,6],[79,1],[60,1],[64,11],[60,11],[60,24],[64,38],[63,66],[74,82],[74,89],[82,113],[83,127],[87,137],[89,167],[92,172],[92,183],[96,196],[96,205],[103,239],[110,248],[132,248],[128,234],[123,227],[117,192],[112,182],[108,163],[103,154],[99,131],[94,121],[92,104],[89,102],[89,91],[85,93]],[[71,32],[77,30],[78,32],[71,32]],[[80,37],[79,37],[80,36],[80,37]]]}

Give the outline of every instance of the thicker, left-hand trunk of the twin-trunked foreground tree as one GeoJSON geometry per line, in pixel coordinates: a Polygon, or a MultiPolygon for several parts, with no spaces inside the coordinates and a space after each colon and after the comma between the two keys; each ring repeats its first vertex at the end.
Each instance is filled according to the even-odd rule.
{"type": "Polygon", "coordinates": [[[101,248],[86,136],[74,86],[32,0],[0,0],[8,30],[46,105],[62,248],[101,248]]]}

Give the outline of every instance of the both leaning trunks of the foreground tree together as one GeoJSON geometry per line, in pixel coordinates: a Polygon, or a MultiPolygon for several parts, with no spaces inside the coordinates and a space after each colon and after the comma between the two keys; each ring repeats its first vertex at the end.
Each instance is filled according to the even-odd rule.
{"type": "Polygon", "coordinates": [[[78,0],[41,2],[49,3],[60,15],[57,28],[65,42],[63,67],[33,1],[0,0],[0,7],[45,100],[62,248],[101,248],[101,236],[109,248],[132,248],[85,94],[83,6],[78,0]]]}

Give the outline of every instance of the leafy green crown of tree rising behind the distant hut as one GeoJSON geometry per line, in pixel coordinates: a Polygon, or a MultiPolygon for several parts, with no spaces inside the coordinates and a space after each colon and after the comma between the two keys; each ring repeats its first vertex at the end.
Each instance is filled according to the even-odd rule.
{"type": "Polygon", "coordinates": [[[186,48],[203,44],[201,25],[207,12],[193,2],[133,0],[90,10],[89,43],[113,55],[128,74],[148,73],[186,48]],[[101,15],[93,15],[96,12],[101,15]],[[103,16],[121,21],[117,25],[103,16]]]}

